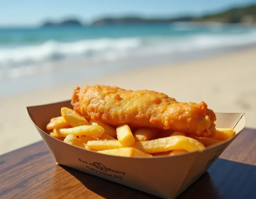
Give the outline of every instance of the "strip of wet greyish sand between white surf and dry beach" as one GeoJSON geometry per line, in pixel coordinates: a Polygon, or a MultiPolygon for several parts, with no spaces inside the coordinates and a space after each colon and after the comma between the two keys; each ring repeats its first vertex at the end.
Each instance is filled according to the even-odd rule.
{"type": "Polygon", "coordinates": [[[210,59],[234,52],[254,49],[256,44],[239,46],[236,48],[216,48],[204,51],[177,52],[176,54],[159,54],[154,56],[131,56],[129,58],[115,61],[92,62],[87,59],[76,61],[56,61],[53,63],[39,64],[33,67],[13,68],[11,74],[0,71],[0,99],[20,94],[30,93],[38,89],[47,89],[54,86],[61,86],[84,79],[90,80],[130,72],[133,70],[154,68],[168,65],[186,63],[189,61],[210,59]],[[23,74],[23,76],[22,76],[23,74]],[[2,77],[2,79],[1,79],[2,77]],[[31,84],[33,82],[33,84],[31,84]],[[67,83],[68,82],[68,83],[67,83]]]}

